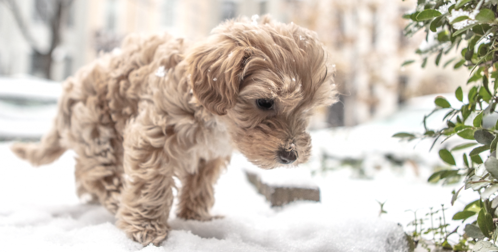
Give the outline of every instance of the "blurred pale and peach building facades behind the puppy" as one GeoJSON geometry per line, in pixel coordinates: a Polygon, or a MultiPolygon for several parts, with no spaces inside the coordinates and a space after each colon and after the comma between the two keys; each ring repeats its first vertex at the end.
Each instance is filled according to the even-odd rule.
{"type": "MultiPolygon", "coordinates": [[[[15,2],[39,49],[48,48],[51,31],[38,12],[40,4],[55,0],[15,2]]],[[[167,31],[195,40],[227,18],[269,13],[315,30],[336,64],[341,102],[322,111],[315,127],[351,126],[388,116],[409,97],[452,92],[464,84],[467,71],[436,68],[433,59],[426,69],[420,63],[400,67],[420,59],[414,51],[423,34],[405,38],[401,18],[415,5],[414,0],[73,0],[62,18],[61,43],[51,54],[51,77],[65,79],[131,32],[167,31]]],[[[42,63],[0,0],[0,75],[43,76],[42,63]]]]}

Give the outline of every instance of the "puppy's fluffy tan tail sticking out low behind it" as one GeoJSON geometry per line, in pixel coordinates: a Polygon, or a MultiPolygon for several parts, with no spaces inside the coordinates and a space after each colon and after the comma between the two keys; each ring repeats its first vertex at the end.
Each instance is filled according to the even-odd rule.
{"type": "Polygon", "coordinates": [[[10,150],[31,165],[41,166],[54,162],[67,148],[61,145],[59,132],[54,127],[39,143],[15,143],[10,150]]]}

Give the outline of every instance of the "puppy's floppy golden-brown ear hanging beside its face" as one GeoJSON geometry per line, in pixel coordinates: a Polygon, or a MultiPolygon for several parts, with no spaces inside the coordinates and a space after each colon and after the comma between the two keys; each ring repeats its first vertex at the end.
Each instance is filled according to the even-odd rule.
{"type": "Polygon", "coordinates": [[[252,50],[231,38],[208,41],[186,57],[194,95],[210,112],[224,115],[237,102],[246,60],[252,50]],[[220,41],[221,40],[221,41],[220,41]]]}

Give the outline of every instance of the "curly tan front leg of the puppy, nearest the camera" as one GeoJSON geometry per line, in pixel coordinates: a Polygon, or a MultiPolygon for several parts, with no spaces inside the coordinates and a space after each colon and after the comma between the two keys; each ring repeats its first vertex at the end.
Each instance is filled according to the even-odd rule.
{"type": "Polygon", "coordinates": [[[143,246],[158,246],[168,235],[173,169],[165,165],[162,130],[137,121],[124,138],[124,189],[117,226],[143,246]]]}

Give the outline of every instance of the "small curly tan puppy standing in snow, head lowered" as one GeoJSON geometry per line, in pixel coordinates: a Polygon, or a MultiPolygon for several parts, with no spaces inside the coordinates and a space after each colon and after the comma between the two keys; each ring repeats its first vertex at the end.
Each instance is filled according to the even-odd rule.
{"type": "Polygon", "coordinates": [[[158,245],[173,176],[176,215],[207,221],[233,149],[264,169],[306,162],[309,117],[336,101],[327,65],[314,32],[267,16],[226,21],[192,45],[131,35],[65,81],[40,143],[11,149],[34,166],[74,150],[78,195],[116,214],[131,239],[158,245]]]}

